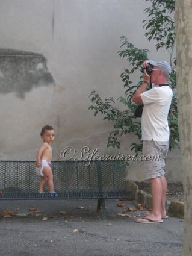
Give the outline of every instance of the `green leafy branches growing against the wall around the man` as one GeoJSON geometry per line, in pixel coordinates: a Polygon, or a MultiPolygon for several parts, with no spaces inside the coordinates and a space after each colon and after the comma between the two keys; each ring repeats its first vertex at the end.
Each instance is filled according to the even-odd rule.
{"type": "MultiPolygon", "coordinates": [[[[175,148],[178,145],[179,134],[178,134],[178,111],[176,102],[176,60],[172,60],[173,47],[175,42],[175,23],[172,20],[172,13],[174,12],[173,0],[146,0],[150,1],[151,5],[149,8],[144,10],[144,13],[148,14],[148,21],[143,20],[144,28],[146,29],[145,36],[147,40],[155,40],[156,50],[159,48],[165,48],[170,54],[170,63],[172,65],[172,73],[170,75],[170,86],[173,89],[174,96],[172,107],[169,112],[169,126],[171,131],[170,138],[170,149],[175,148]]],[[[126,110],[120,111],[114,107],[114,99],[112,97],[102,101],[101,97],[95,91],[91,92],[90,97],[93,105],[89,108],[94,111],[94,115],[101,113],[104,114],[104,120],[107,119],[113,122],[114,130],[108,137],[108,146],[113,148],[120,147],[118,140],[119,136],[126,133],[135,133],[138,137],[139,143],[132,143],[131,150],[134,149],[135,153],[141,151],[141,124],[140,120],[134,116],[135,108],[137,104],[131,102],[131,98],[137,90],[138,86],[142,83],[143,76],[140,76],[138,84],[134,85],[131,81],[131,76],[135,71],[140,70],[141,64],[144,60],[147,60],[148,49],[138,49],[129,40],[122,36],[120,37],[122,42],[121,51],[119,51],[120,57],[126,58],[129,64],[129,69],[125,69],[120,75],[125,87],[125,96],[119,97],[118,100],[121,102],[126,110]]]]}

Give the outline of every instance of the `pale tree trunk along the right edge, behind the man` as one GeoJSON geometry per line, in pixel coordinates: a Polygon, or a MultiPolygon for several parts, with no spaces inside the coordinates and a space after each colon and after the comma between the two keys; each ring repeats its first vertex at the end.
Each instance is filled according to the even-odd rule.
{"type": "Polygon", "coordinates": [[[184,172],[184,247],[192,255],[192,1],[176,0],[179,136],[184,172]]]}

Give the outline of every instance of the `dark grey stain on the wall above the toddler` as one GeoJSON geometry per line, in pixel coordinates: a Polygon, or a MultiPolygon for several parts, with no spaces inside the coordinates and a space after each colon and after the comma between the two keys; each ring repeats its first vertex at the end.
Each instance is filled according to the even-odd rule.
{"type": "Polygon", "coordinates": [[[46,62],[42,54],[0,48],[0,93],[24,98],[34,87],[54,86],[46,62]]]}

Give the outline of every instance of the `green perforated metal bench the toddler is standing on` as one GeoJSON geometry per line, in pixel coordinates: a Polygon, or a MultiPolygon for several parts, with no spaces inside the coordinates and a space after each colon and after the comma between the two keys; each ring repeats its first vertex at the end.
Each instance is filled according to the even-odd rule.
{"type": "MultiPolygon", "coordinates": [[[[98,199],[106,219],[105,199],[129,198],[125,164],[119,161],[52,161],[57,197],[38,193],[35,161],[0,161],[0,200],[98,199]]],[[[47,187],[45,187],[47,190],[47,187]]]]}

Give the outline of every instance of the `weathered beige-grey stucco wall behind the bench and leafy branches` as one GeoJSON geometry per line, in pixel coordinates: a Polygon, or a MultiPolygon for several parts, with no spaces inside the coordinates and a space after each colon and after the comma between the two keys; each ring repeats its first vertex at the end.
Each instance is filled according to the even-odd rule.
{"type": "MultiPolygon", "coordinates": [[[[125,95],[122,35],[150,49],[153,60],[169,60],[143,36],[145,7],[143,0],[1,0],[1,160],[34,160],[45,124],[56,131],[54,160],[67,146],[76,157],[86,145],[90,154],[98,148],[99,155],[132,155],[132,134],[121,139],[120,151],[106,148],[112,126],[88,110],[88,95],[125,95]]],[[[171,180],[182,178],[178,155],[167,159],[171,180]]],[[[142,179],[138,163],[130,162],[129,178],[142,179]]]]}

